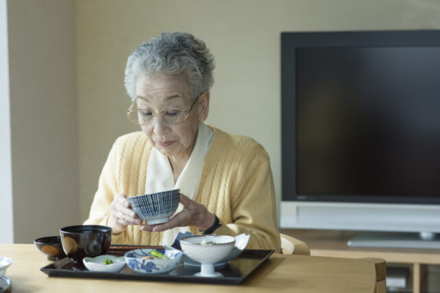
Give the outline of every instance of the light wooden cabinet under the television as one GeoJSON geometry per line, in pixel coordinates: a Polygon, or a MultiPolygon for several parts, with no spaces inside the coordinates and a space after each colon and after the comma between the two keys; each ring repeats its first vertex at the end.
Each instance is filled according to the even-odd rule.
{"type": "Polygon", "coordinates": [[[378,257],[386,263],[406,263],[412,266],[412,292],[426,292],[428,287],[427,266],[440,265],[440,249],[403,248],[353,248],[347,241],[360,231],[331,231],[307,229],[281,229],[281,233],[303,240],[310,254],[323,257],[378,257]]]}

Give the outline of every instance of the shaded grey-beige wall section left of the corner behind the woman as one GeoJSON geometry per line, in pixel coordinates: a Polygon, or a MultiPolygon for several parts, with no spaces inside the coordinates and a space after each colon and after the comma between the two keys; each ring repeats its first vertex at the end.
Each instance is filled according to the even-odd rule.
{"type": "Polygon", "coordinates": [[[79,223],[74,12],[73,0],[8,1],[16,243],[79,223]]]}

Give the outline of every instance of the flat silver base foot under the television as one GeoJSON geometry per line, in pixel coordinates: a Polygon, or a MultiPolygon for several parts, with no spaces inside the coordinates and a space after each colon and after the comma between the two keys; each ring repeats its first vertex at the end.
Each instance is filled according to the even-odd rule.
{"type": "Polygon", "coordinates": [[[440,249],[435,233],[364,232],[347,242],[351,247],[440,249]]]}

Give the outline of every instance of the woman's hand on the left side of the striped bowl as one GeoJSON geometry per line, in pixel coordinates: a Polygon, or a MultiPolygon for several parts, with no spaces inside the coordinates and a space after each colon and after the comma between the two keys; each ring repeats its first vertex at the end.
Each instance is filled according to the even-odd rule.
{"type": "Polygon", "coordinates": [[[110,204],[110,218],[107,223],[113,229],[113,234],[118,235],[125,231],[126,226],[140,225],[142,222],[130,208],[126,195],[116,194],[110,204]]]}

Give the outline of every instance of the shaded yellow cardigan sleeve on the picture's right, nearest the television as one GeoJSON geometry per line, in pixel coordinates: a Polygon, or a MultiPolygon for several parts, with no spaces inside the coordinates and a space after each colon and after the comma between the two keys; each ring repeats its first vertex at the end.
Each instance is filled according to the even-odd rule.
{"type": "Polygon", "coordinates": [[[267,158],[244,176],[242,184],[232,195],[232,223],[214,232],[219,235],[250,235],[247,248],[281,250],[281,239],[276,225],[274,181],[270,160],[267,158]]]}

